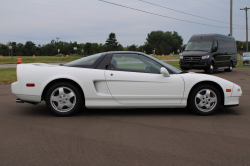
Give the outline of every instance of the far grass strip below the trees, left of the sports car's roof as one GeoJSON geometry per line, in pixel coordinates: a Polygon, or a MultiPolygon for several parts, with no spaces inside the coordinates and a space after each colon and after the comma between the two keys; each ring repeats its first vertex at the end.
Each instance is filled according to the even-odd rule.
{"type": "MultiPolygon", "coordinates": [[[[53,62],[70,62],[76,59],[82,58],[82,56],[70,56],[70,57],[56,57],[56,56],[22,56],[22,63],[53,63],[53,62]]],[[[0,64],[17,64],[17,57],[4,56],[0,59],[0,64]]]]}

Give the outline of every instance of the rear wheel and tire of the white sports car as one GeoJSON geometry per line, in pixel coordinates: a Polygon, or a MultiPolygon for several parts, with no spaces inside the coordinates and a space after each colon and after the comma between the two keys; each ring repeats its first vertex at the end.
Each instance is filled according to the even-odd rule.
{"type": "Polygon", "coordinates": [[[69,82],[52,85],[45,97],[48,109],[57,116],[75,114],[82,105],[81,90],[69,82]]]}

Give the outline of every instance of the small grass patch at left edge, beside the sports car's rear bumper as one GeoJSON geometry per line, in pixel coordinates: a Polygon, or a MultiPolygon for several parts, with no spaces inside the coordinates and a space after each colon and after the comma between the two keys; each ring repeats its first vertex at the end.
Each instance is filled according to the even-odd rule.
{"type": "Polygon", "coordinates": [[[0,68],[0,85],[10,84],[16,80],[16,68],[0,68]]]}

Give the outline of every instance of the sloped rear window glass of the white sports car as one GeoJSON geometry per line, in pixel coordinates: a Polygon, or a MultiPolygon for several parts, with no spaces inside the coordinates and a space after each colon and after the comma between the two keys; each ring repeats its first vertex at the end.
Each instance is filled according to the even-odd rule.
{"type": "Polygon", "coordinates": [[[77,59],[70,63],[65,64],[65,66],[79,66],[79,65],[92,65],[102,54],[94,54],[81,59],[77,59]]]}

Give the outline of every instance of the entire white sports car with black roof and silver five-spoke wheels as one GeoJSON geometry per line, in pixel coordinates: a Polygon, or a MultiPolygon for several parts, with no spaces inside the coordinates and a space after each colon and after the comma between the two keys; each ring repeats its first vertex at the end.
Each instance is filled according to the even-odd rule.
{"type": "Polygon", "coordinates": [[[208,115],[237,106],[240,86],[179,70],[140,52],[106,52],[65,65],[17,65],[11,86],[18,103],[46,101],[59,116],[86,108],[183,108],[208,115]]]}

